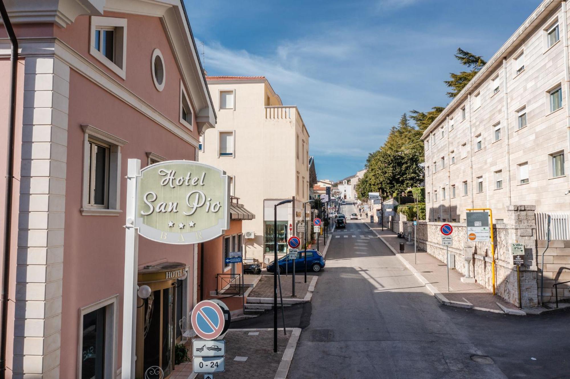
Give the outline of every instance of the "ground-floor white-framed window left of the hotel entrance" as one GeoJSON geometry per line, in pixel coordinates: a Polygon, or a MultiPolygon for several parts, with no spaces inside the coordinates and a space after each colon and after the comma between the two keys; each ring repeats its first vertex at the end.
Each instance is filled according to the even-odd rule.
{"type": "Polygon", "coordinates": [[[117,306],[119,295],[79,312],[79,378],[116,376],[117,306]]]}

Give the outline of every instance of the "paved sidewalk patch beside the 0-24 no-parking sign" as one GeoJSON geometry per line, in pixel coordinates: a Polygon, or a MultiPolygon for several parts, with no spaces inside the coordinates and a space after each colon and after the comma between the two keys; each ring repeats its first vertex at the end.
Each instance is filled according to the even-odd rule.
{"type": "MultiPolygon", "coordinates": [[[[227,332],[224,338],[226,340],[226,370],[215,373],[215,379],[275,377],[292,329],[287,329],[287,335],[283,335],[283,329],[279,329],[277,353],[273,352],[273,331],[259,330],[258,335],[249,335],[250,332],[252,331],[241,329],[230,329],[227,332]],[[247,357],[247,360],[245,362],[234,361],[236,356],[247,357]]],[[[188,345],[190,346],[190,343],[188,345]]],[[[181,365],[176,368],[178,369],[179,366],[181,365]]],[[[192,363],[188,363],[186,370],[188,368],[192,373],[192,363]]],[[[198,374],[197,378],[201,379],[202,376],[203,374],[198,374]]]]}

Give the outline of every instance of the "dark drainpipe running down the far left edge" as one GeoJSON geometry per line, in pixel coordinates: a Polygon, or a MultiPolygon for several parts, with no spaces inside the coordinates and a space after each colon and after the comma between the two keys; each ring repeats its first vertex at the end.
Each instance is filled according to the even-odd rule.
{"type": "Polygon", "coordinates": [[[6,192],[4,212],[4,250],[2,252],[2,292],[0,294],[0,378],[6,377],[6,330],[8,326],[8,290],[10,273],[10,232],[12,227],[12,191],[14,183],[14,130],[16,128],[16,78],[18,75],[18,40],[8,17],[4,1],[0,0],[0,15],[10,37],[10,107],[8,109],[8,147],[6,151],[6,192]]]}

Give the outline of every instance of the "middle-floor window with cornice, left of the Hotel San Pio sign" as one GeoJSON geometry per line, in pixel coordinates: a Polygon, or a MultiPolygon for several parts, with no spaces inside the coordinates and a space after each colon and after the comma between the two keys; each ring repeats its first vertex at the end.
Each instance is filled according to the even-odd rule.
{"type": "Polygon", "coordinates": [[[118,215],[121,146],[127,141],[91,125],[83,129],[83,215],[118,215]]]}

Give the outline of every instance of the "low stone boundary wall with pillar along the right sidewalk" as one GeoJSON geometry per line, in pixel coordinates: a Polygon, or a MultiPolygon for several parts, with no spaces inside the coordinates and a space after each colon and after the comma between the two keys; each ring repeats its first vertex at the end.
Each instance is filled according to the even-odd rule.
{"type": "MultiPolygon", "coordinates": [[[[512,264],[511,243],[524,244],[524,265],[520,270],[520,289],[523,307],[538,305],[537,266],[536,266],[536,228],[534,205],[511,205],[507,208],[504,224],[494,225],[495,237],[495,283],[496,294],[508,302],[520,306],[516,266],[512,264]]],[[[405,221],[413,233],[412,221],[405,221]]],[[[418,221],[418,247],[442,262],[446,262],[446,247],[441,245],[439,228],[443,223],[418,221]]],[[[449,253],[455,257],[455,269],[466,274],[470,270],[475,280],[492,290],[492,254],[490,242],[470,242],[467,240],[465,223],[449,223],[453,226],[453,245],[449,253]],[[466,261],[465,257],[471,257],[466,261]]],[[[402,228],[406,228],[402,226],[402,228]]],[[[413,234],[412,234],[413,238],[413,234]]],[[[570,250],[570,249],[569,249],[570,250]]],[[[568,256],[570,258],[570,254],[568,256]]],[[[546,262],[546,258],[545,258],[546,262]]],[[[568,264],[570,266],[570,263],[568,264]]],[[[553,266],[553,268],[556,268],[553,266]]],[[[570,275],[570,271],[568,271],[570,275]]],[[[568,278],[570,280],[570,277],[568,278]]],[[[546,285],[545,285],[546,287],[546,285]]],[[[545,299],[546,301],[546,299],[545,299]]]]}

